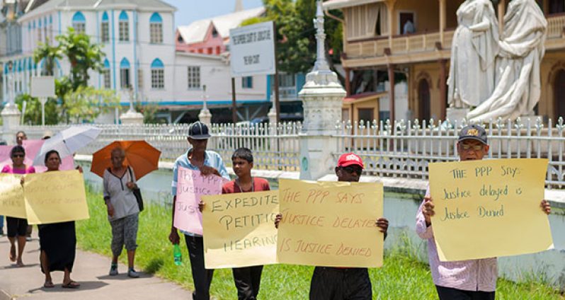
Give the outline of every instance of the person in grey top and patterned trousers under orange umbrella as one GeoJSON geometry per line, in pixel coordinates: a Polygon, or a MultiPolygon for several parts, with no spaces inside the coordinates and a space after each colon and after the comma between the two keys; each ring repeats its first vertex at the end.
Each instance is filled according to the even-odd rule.
{"type": "Polygon", "coordinates": [[[104,202],[108,207],[108,221],[112,227],[112,265],[110,276],[118,275],[118,257],[125,246],[127,250],[127,276],[139,277],[134,269],[137,248],[139,206],[133,193],[137,189],[135,173],[124,166],[125,151],[117,147],[111,152],[112,166],[104,171],[104,202]]]}

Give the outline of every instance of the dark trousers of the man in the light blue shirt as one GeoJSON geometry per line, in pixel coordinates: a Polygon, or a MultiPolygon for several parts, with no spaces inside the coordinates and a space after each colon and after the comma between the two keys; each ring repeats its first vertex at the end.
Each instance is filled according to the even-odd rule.
{"type": "Polygon", "coordinates": [[[194,300],[210,299],[210,284],[214,270],[204,267],[204,243],[202,237],[188,236],[185,234],[186,247],[190,256],[190,268],[193,272],[194,300]]]}

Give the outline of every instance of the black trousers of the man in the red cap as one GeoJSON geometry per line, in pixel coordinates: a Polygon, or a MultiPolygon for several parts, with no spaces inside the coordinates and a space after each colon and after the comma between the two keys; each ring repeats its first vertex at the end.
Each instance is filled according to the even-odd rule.
{"type": "Polygon", "coordinates": [[[371,300],[371,279],[366,268],[316,267],[310,300],[371,300]]]}

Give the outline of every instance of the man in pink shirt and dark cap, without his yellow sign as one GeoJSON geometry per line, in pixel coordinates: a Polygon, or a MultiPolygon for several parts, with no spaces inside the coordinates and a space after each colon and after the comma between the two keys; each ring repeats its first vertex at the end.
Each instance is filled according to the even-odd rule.
{"type": "MultiPolygon", "coordinates": [[[[479,125],[469,125],[461,129],[457,141],[460,161],[481,160],[489,153],[486,132],[479,125]]],[[[540,204],[549,214],[551,206],[546,200],[540,204]]],[[[495,297],[498,265],[496,258],[442,262],[435,246],[431,217],[435,214],[430,188],[416,214],[416,233],[428,240],[428,260],[433,283],[440,300],[492,300],[495,297]]]]}

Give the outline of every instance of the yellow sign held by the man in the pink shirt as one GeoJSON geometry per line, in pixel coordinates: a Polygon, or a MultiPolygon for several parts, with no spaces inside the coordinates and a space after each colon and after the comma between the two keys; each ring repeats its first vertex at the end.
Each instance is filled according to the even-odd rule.
{"type": "Polygon", "coordinates": [[[544,198],[547,159],[430,163],[433,234],[442,261],[553,247],[544,198]]]}

